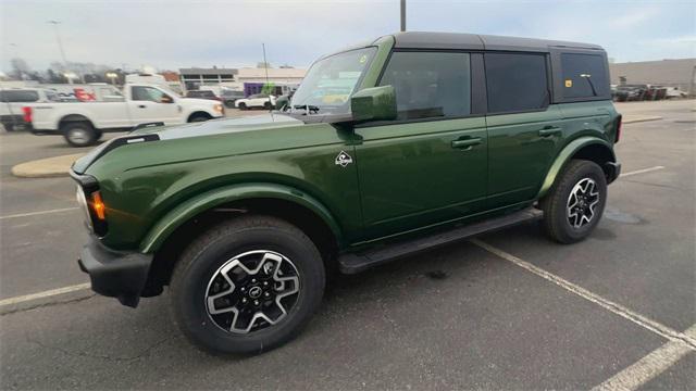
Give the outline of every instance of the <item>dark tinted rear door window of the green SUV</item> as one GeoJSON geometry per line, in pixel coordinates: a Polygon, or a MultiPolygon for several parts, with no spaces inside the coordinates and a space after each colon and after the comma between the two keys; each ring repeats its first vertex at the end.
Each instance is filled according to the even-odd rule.
{"type": "Polygon", "coordinates": [[[546,55],[486,53],[488,112],[544,109],[549,102],[546,55]]]}

